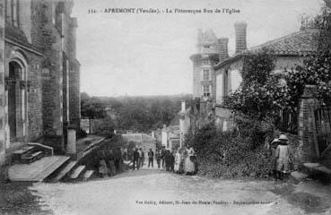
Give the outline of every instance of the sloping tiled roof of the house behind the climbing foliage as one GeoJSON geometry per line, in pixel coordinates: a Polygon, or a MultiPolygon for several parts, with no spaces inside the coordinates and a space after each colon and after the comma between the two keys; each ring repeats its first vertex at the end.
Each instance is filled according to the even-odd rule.
{"type": "Polygon", "coordinates": [[[318,47],[318,30],[300,30],[279,39],[274,39],[252,47],[249,51],[258,52],[262,48],[272,49],[275,55],[309,56],[315,54],[318,47]]]}

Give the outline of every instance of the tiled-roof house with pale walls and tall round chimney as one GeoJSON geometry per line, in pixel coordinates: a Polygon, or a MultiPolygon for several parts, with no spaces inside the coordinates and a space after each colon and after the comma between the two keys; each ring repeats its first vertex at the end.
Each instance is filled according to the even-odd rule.
{"type": "Polygon", "coordinates": [[[219,64],[213,66],[216,79],[215,95],[215,116],[216,123],[221,125],[223,130],[231,127],[231,110],[223,107],[224,99],[231,92],[240,86],[241,72],[243,69],[243,59],[248,52],[258,53],[263,49],[272,50],[275,56],[274,72],[282,73],[284,70],[291,70],[296,65],[303,64],[307,56],[314,55],[318,47],[318,30],[314,28],[301,28],[301,30],[286,35],[279,39],[274,39],[257,47],[247,49],[245,22],[237,22],[236,29],[236,53],[219,64]],[[240,30],[238,30],[240,29],[240,30]],[[245,37],[245,38],[243,38],[245,37]]]}

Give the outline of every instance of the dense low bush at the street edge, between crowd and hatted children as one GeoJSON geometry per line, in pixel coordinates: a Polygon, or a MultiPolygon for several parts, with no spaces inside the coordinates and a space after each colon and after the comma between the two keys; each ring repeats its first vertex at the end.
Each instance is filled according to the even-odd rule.
{"type": "Polygon", "coordinates": [[[196,149],[199,175],[264,177],[271,170],[264,146],[255,145],[251,137],[223,133],[206,125],[187,141],[196,149]]]}

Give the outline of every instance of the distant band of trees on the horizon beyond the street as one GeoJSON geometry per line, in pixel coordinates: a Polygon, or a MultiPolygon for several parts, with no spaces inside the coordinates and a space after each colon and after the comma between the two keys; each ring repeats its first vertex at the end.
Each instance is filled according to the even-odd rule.
{"type": "Polygon", "coordinates": [[[82,93],[82,116],[106,118],[108,107],[115,117],[112,128],[118,131],[133,130],[150,132],[162,125],[179,123],[180,101],[189,100],[189,95],[151,97],[89,97],[82,93]]]}

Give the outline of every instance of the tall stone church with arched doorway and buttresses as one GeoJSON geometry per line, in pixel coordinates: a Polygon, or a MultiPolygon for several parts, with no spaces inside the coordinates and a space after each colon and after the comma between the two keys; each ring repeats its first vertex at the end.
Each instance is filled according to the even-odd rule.
{"type": "Polygon", "coordinates": [[[6,152],[39,142],[65,152],[80,127],[80,64],[73,1],[0,1],[0,166],[6,152]]]}

